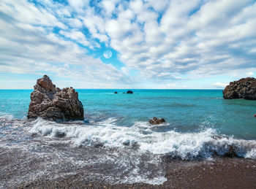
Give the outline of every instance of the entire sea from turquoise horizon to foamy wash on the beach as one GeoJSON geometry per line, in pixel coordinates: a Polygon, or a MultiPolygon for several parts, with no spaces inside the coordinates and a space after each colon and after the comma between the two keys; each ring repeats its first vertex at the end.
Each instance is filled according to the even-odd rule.
{"type": "Polygon", "coordinates": [[[225,100],[222,90],[77,91],[85,119],[57,123],[27,120],[32,90],[0,90],[0,154],[11,160],[0,188],[84,170],[85,180],[160,185],[166,159],[214,161],[230,147],[256,158],[256,101],[225,100]]]}

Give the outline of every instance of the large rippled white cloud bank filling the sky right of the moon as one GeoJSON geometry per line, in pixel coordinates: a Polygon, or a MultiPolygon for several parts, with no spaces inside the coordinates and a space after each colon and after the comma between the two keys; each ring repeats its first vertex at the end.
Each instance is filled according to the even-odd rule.
{"type": "Polygon", "coordinates": [[[156,13],[147,8],[148,4],[131,1],[127,9],[137,20],[121,20],[120,12],[117,19],[107,23],[106,31],[121,61],[146,77],[223,74],[255,66],[251,50],[256,44],[255,18],[244,11],[255,14],[252,2],[171,1],[159,25],[157,15],[150,16],[156,13]]]}

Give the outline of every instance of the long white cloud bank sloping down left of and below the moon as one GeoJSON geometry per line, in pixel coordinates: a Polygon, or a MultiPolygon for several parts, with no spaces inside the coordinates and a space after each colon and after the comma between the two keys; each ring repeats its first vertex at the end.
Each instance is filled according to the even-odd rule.
{"type": "MultiPolygon", "coordinates": [[[[80,81],[79,88],[95,88],[96,83],[104,82],[108,82],[105,86],[118,85],[120,80],[125,85],[129,80],[112,64],[86,55],[86,49],[48,28],[10,19],[11,23],[0,19],[1,72],[54,74],[80,81]]],[[[83,45],[91,45],[86,36],[75,29],[60,31],[60,34],[83,45]]]]}

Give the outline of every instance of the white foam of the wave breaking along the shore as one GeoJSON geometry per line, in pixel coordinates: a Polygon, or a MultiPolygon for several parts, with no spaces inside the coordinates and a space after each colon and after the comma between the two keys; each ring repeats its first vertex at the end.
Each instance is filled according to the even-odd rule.
{"type": "Polygon", "coordinates": [[[217,132],[211,128],[199,133],[156,132],[148,128],[147,124],[135,123],[130,128],[116,126],[116,118],[113,117],[94,125],[62,124],[37,119],[30,132],[39,132],[49,137],[55,137],[61,132],[72,139],[75,145],[101,143],[105,147],[124,148],[137,144],[141,153],[168,154],[181,159],[210,158],[213,151],[223,155],[232,145],[238,155],[256,158],[255,140],[216,137],[217,132]],[[148,132],[145,134],[144,131],[148,132]]]}

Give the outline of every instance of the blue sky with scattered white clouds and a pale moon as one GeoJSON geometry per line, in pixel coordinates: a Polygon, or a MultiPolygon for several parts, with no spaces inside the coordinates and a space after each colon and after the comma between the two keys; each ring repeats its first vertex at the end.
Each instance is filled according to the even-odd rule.
{"type": "Polygon", "coordinates": [[[0,89],[225,88],[256,77],[255,0],[1,0],[0,89]]]}

